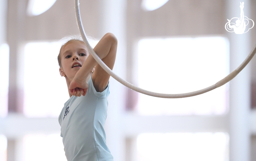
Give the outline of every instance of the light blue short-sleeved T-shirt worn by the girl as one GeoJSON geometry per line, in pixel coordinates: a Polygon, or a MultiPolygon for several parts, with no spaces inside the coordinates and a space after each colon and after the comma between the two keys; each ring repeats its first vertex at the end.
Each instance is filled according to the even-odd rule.
{"type": "Polygon", "coordinates": [[[113,161],[104,124],[107,117],[109,85],[96,92],[92,77],[85,96],[72,96],[59,115],[64,151],[68,161],[113,161]]]}

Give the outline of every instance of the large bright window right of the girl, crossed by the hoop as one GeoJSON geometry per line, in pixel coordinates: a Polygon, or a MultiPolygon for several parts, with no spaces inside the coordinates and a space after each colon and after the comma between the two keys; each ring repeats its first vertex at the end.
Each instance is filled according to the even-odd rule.
{"type": "MultiPolygon", "coordinates": [[[[223,37],[142,39],[138,51],[139,87],[158,93],[187,93],[215,84],[229,74],[229,43],[223,37]]],[[[225,114],[228,84],[189,98],[139,94],[141,115],[225,114]]]]}

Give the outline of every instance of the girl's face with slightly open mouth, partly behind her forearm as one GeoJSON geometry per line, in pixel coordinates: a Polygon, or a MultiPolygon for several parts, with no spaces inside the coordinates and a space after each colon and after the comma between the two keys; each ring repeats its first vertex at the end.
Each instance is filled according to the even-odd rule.
{"type": "Polygon", "coordinates": [[[74,41],[66,44],[61,50],[60,75],[65,75],[66,80],[71,82],[88,56],[88,49],[83,43],[74,41]]]}

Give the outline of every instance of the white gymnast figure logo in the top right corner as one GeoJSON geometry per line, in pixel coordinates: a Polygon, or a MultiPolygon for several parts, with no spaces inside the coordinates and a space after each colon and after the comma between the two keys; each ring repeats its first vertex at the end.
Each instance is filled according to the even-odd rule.
{"type": "Polygon", "coordinates": [[[225,24],[225,29],[228,32],[235,32],[236,34],[243,34],[249,31],[249,29],[251,29],[254,26],[254,22],[249,19],[248,17],[245,16],[244,14],[244,2],[241,3],[240,2],[240,18],[238,17],[234,17],[232,19],[236,20],[236,24],[232,23],[231,20],[227,19],[227,23],[225,24]],[[245,31],[246,26],[249,24],[249,20],[252,21],[252,27],[249,28],[247,31],[245,31]],[[234,24],[234,25],[231,25],[234,24]],[[232,28],[234,29],[233,31],[229,31],[232,30],[232,28]]]}

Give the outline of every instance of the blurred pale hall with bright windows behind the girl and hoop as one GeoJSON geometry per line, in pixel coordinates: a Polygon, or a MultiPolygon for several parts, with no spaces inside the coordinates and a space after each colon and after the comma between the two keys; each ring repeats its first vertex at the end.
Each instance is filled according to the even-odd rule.
{"type": "MultiPolygon", "coordinates": [[[[256,22],[256,1],[244,1],[256,22]]],[[[113,71],[159,93],[206,88],[234,71],[256,29],[227,32],[238,0],[80,0],[91,45],[118,39],[113,71]]],[[[252,27],[252,22],[248,26],[252,27]]],[[[73,0],[0,0],[0,161],[65,161],[58,116],[69,99],[57,55],[78,34],[73,0]]],[[[224,86],[154,98],[110,79],[107,145],[115,161],[256,161],[256,58],[224,86]]]]}

